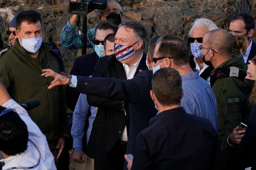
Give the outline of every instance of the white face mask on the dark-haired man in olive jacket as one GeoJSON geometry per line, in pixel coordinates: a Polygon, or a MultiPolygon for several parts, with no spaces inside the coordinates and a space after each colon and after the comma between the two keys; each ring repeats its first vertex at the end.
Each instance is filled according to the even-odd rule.
{"type": "MultiPolygon", "coordinates": [[[[20,41],[20,39],[18,40],[20,41]]],[[[42,42],[43,42],[43,36],[35,37],[35,38],[22,38],[22,43],[20,42],[20,44],[29,53],[36,53],[41,47],[42,42]]]]}

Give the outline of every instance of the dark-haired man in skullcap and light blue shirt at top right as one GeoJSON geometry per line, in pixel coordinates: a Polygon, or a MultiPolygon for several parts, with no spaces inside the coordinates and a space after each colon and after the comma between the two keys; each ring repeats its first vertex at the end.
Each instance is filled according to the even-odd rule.
{"type": "Polygon", "coordinates": [[[251,59],[256,55],[256,44],[252,41],[254,34],[255,21],[254,18],[247,13],[239,13],[235,15],[230,22],[229,32],[234,35],[245,36],[249,46],[245,54],[243,54],[244,63],[251,63],[251,59]]]}

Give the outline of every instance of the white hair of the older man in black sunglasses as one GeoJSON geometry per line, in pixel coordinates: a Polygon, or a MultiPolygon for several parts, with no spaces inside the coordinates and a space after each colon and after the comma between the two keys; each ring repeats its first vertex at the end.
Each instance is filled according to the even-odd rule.
{"type": "Polygon", "coordinates": [[[188,36],[190,37],[191,36],[191,33],[192,33],[192,30],[195,28],[195,27],[198,27],[198,26],[207,26],[208,27],[208,31],[211,31],[211,30],[215,30],[215,29],[218,29],[218,26],[216,26],[216,24],[214,22],[212,22],[210,19],[206,19],[206,18],[197,18],[192,24],[191,24],[191,28],[188,32],[188,36]]]}

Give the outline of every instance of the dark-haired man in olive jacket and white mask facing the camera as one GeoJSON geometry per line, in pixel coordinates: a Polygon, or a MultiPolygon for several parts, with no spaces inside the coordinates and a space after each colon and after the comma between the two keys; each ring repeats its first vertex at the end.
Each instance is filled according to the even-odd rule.
{"type": "Polygon", "coordinates": [[[0,82],[20,104],[40,100],[40,105],[28,114],[58,159],[69,134],[65,90],[63,86],[48,90],[53,79],[41,76],[46,68],[60,72],[55,51],[42,43],[42,20],[36,11],[22,11],[17,15],[15,33],[14,46],[0,56],[0,82]]]}

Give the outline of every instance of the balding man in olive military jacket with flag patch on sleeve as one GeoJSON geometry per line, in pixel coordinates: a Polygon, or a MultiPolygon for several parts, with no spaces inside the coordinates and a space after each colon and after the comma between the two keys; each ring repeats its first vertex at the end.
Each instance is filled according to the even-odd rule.
{"type": "Polygon", "coordinates": [[[227,168],[237,168],[236,146],[229,139],[232,130],[241,122],[240,101],[245,97],[243,78],[246,66],[242,55],[232,58],[233,40],[227,31],[217,29],[203,38],[202,52],[206,63],[212,63],[211,86],[218,105],[219,140],[226,157],[227,168]],[[233,162],[233,163],[231,163],[233,162]]]}

